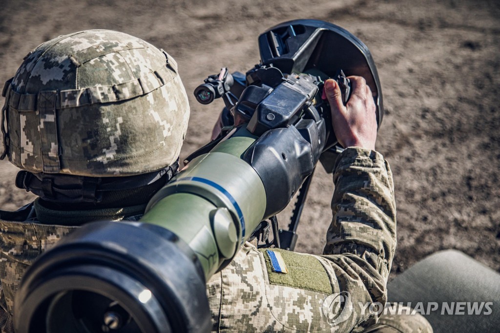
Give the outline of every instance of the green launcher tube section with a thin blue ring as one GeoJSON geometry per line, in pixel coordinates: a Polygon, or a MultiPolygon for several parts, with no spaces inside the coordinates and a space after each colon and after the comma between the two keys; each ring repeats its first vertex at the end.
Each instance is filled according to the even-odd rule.
{"type": "Polygon", "coordinates": [[[205,280],[229,262],[264,215],[264,185],[241,159],[256,138],[239,128],[191,160],[153,196],[141,218],[184,240],[196,253],[205,280]]]}

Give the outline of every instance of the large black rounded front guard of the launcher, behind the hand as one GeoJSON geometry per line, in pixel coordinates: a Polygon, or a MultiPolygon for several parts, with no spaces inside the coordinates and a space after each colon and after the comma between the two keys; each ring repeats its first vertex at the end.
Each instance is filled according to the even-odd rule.
{"type": "Polygon", "coordinates": [[[380,80],[368,47],[338,25],[315,19],[296,19],[275,25],[258,37],[262,64],[272,64],[283,73],[319,70],[333,77],[339,69],[345,75],[362,76],[371,89],[382,122],[380,80]]]}

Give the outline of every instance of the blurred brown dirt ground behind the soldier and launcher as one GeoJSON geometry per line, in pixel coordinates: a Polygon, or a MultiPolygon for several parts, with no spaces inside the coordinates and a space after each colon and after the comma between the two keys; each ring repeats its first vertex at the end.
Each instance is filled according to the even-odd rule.
{"type": "MultiPolygon", "coordinates": [[[[446,248],[500,270],[500,2],[2,0],[0,7],[1,82],[31,48],[83,29],[119,30],[162,47],[192,91],[221,66],[244,72],[257,63],[258,34],[278,22],[317,18],[346,28],[370,48],[382,82],[376,147],[392,166],[398,208],[392,276],[446,248]]],[[[222,106],[202,106],[191,94],[190,102],[182,156],[209,139],[222,106]]],[[[0,161],[2,209],[33,198],[15,188],[15,173],[0,161]]],[[[297,250],[321,252],[331,192],[330,175],[318,170],[297,250]]]]}

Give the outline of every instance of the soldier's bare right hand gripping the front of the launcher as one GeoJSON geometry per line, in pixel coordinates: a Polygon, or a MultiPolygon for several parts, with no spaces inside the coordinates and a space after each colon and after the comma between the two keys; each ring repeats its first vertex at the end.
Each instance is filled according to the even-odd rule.
{"type": "Polygon", "coordinates": [[[333,131],[343,147],[375,149],[375,102],[364,78],[349,76],[352,93],[346,105],[342,103],[340,88],[333,79],[324,82],[324,92],[330,103],[333,131]]]}

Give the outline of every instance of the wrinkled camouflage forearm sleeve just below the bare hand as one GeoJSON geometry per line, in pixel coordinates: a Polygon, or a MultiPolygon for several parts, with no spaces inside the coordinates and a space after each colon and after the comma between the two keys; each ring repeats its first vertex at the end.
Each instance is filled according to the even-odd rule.
{"type": "MultiPolygon", "coordinates": [[[[396,208],[389,165],[376,151],[347,148],[333,169],[333,218],[323,257],[331,261],[340,290],[353,302],[386,301],[396,246],[396,208]]],[[[369,316],[361,326],[373,324],[369,316]]]]}

